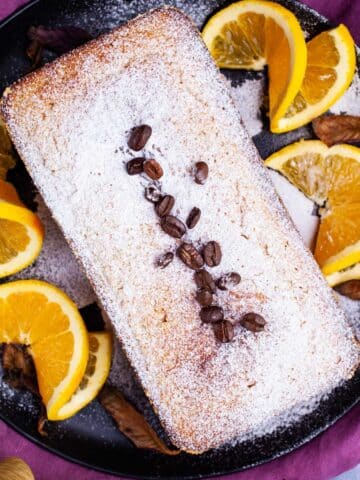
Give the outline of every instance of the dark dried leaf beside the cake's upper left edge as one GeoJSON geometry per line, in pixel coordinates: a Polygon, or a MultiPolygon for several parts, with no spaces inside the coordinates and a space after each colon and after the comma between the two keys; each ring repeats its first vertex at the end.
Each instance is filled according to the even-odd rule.
{"type": "MultiPolygon", "coordinates": [[[[32,42],[36,41],[40,46],[59,55],[92,39],[92,36],[83,28],[46,28],[42,25],[30,27],[28,37],[32,42]]],[[[34,45],[33,48],[35,48],[34,45]]]]}

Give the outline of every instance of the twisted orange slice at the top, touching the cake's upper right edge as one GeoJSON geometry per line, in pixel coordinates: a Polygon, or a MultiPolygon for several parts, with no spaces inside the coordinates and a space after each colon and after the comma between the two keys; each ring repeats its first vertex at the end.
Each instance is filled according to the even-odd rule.
{"type": "Polygon", "coordinates": [[[202,35],[220,68],[268,66],[269,115],[276,127],[305,75],[307,51],[295,15],[274,2],[242,0],[213,15],[202,35]]]}

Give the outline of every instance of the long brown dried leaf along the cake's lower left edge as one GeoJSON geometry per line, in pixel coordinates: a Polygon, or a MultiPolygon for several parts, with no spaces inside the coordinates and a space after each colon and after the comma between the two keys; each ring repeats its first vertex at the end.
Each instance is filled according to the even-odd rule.
{"type": "Polygon", "coordinates": [[[119,430],[138,448],[156,450],[164,455],[178,455],[179,450],[169,449],[157,436],[145,418],[113,387],[105,386],[99,401],[112,416],[119,430]]]}

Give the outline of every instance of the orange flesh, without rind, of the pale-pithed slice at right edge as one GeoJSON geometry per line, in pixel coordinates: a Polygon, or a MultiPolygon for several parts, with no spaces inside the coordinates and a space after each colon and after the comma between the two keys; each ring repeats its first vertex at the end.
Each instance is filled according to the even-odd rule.
{"type": "Polygon", "coordinates": [[[327,260],[360,238],[360,162],[331,153],[294,156],[282,167],[287,178],[321,211],[315,258],[327,260]]]}

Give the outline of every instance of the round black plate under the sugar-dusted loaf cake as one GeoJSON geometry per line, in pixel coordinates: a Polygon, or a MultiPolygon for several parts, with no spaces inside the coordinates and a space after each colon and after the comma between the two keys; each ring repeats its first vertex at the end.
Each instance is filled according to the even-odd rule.
{"type": "MultiPolygon", "coordinates": [[[[29,71],[24,55],[29,25],[78,25],[94,35],[106,31],[150,7],[163,3],[175,4],[188,11],[201,27],[208,15],[223,6],[216,0],[37,0],[14,14],[0,26],[0,91],[29,71]]],[[[313,36],[329,28],[329,23],[316,12],[292,0],[279,3],[293,10],[304,29],[313,36]]],[[[234,84],[258,74],[225,72],[234,84]]],[[[272,135],[262,131],[254,141],[266,157],[297,138],[312,136],[308,127],[298,134],[272,135]],[[289,136],[291,135],[291,136],[289,136]]],[[[36,209],[34,187],[19,163],[11,173],[20,194],[30,208],[36,209]]],[[[94,308],[83,310],[86,320],[94,319],[94,308]]],[[[96,323],[96,322],[95,322],[96,323]]],[[[111,419],[95,401],[70,420],[52,423],[49,436],[40,437],[36,429],[38,405],[30,394],[14,392],[1,381],[0,417],[17,431],[44,448],[90,468],[140,478],[193,479],[244,470],[287,453],[328,428],[359,400],[360,371],[341,388],[337,388],[316,411],[306,415],[289,428],[248,441],[224,447],[200,456],[185,453],[167,457],[136,449],[120,434],[111,419]]],[[[156,418],[152,417],[152,423],[156,418]]]]}

